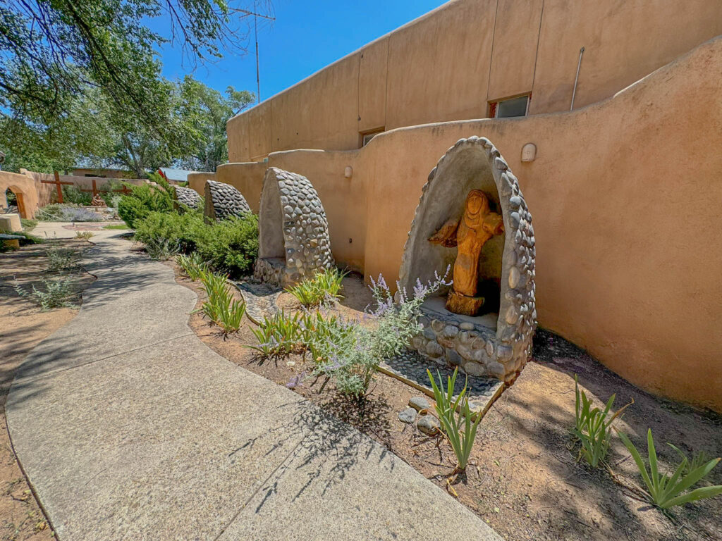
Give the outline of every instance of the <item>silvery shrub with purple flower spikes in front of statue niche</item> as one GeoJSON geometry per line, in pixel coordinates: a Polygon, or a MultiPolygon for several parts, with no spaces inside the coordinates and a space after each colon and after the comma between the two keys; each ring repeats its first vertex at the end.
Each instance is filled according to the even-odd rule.
{"type": "Polygon", "coordinates": [[[365,395],[380,362],[398,355],[421,331],[421,304],[429,294],[448,285],[445,277],[437,275],[434,282],[426,285],[417,281],[412,296],[399,291],[398,303],[393,301],[393,294],[382,276],[378,281],[372,279],[376,307],[370,316],[376,325],[349,324],[329,329],[329,339],[318,344],[322,361],[315,374],[331,377],[336,389],[345,395],[365,395]]]}

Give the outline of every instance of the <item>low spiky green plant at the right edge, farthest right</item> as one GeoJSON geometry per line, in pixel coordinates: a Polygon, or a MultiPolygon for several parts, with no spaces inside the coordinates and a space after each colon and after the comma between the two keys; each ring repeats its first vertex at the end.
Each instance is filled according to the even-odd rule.
{"type": "Polygon", "coordinates": [[[690,470],[687,475],[684,475],[684,470],[687,468],[687,457],[682,459],[682,462],[674,471],[674,474],[669,477],[661,473],[658,469],[657,464],[657,452],[654,448],[654,439],[652,437],[652,429],[647,431],[647,454],[649,461],[649,471],[645,465],[642,456],[638,452],[637,448],[632,444],[627,435],[617,431],[619,439],[625,444],[627,450],[632,454],[642,479],[647,490],[643,491],[648,500],[659,507],[660,509],[669,509],[670,507],[680,506],[684,503],[690,503],[691,501],[701,500],[703,498],[712,498],[722,494],[722,485],[705,486],[695,488],[694,491],[683,494],[692,485],[695,485],[705,475],[712,471],[713,467],[720,461],[719,458],[712,459],[703,465],[696,467],[694,470],[690,470]]]}

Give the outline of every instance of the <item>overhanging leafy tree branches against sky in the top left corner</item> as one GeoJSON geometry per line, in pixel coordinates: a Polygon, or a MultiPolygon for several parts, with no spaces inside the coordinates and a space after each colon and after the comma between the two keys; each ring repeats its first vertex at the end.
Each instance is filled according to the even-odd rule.
{"type": "Polygon", "coordinates": [[[6,0],[0,107],[19,118],[54,120],[90,84],[160,130],[155,50],[171,43],[191,62],[219,58],[224,48],[244,43],[238,24],[247,16],[227,0],[6,0]],[[147,26],[155,17],[165,17],[167,35],[147,26]]]}

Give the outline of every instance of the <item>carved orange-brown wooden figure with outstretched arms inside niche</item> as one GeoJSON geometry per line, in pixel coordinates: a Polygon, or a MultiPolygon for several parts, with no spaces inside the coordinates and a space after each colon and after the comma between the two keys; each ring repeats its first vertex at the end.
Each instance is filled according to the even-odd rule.
{"type": "Polygon", "coordinates": [[[490,238],[503,232],[503,217],[490,211],[487,195],[482,190],[471,190],[466,195],[461,219],[450,219],[429,237],[429,242],[435,244],[458,246],[453,265],[453,289],[446,299],[449,312],[470,316],[479,313],[484,304],[484,297],[476,296],[479,255],[490,238]]]}

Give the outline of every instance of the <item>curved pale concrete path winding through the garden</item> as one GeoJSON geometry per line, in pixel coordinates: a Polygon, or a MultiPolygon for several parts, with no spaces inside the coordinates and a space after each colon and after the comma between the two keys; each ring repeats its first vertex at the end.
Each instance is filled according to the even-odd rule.
{"type": "Polygon", "coordinates": [[[207,348],[187,325],[196,295],[111,233],[94,238],[79,315],[30,353],[6,404],[61,541],[500,539],[375,441],[207,348]]]}

